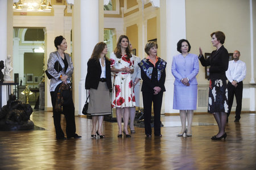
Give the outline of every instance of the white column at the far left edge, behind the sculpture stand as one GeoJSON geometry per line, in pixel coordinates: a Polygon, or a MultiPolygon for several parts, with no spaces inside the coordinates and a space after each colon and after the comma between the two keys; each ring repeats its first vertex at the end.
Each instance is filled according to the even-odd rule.
{"type": "MultiPolygon", "coordinates": [[[[7,0],[0,0],[0,61],[4,61],[7,57],[7,0]]],[[[2,70],[3,71],[3,70],[2,70]]],[[[2,107],[7,104],[6,86],[2,86],[2,107]]]]}

